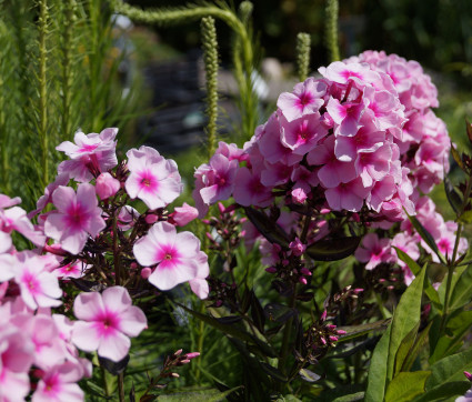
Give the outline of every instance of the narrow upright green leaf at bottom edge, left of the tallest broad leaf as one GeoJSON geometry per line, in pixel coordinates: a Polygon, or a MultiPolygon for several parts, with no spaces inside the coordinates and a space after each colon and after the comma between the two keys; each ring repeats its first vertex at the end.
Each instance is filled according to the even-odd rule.
{"type": "Polygon", "coordinates": [[[383,401],[386,382],[386,363],[389,360],[389,345],[392,325],[389,325],[376,344],[369,368],[368,389],[365,402],[383,401]]]}

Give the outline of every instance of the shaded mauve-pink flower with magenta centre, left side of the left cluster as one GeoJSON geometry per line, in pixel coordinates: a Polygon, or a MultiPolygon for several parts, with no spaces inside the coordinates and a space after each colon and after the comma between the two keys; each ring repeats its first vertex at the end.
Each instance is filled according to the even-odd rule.
{"type": "Polygon", "coordinates": [[[93,185],[79,184],[77,193],[60,185],[52,193],[52,201],[57,211],[48,215],[44,233],[59,241],[63,250],[80,253],[89,235],[94,238],[106,228],[93,185]]]}

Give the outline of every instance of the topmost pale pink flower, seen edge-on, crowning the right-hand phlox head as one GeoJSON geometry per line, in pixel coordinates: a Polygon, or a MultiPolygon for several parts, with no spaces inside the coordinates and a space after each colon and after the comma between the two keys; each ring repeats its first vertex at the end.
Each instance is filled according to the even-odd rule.
{"type": "Polygon", "coordinates": [[[321,76],[330,81],[338,83],[348,83],[350,80],[354,81],[360,88],[365,87],[380,79],[378,72],[372,71],[366,63],[350,63],[347,64],[342,61],[334,61],[328,67],[320,67],[318,69],[321,76]]]}

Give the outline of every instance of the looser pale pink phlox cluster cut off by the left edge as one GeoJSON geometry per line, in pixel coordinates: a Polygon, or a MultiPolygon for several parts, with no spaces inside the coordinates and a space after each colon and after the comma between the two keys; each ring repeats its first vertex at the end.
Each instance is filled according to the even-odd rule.
{"type": "Polygon", "coordinates": [[[208,295],[207,254],[177,232],[198,211],[168,211],[182,191],[175,162],[141,147],[118,163],[117,132],[57,147],[69,160],[29,214],[0,194],[0,402],[83,400],[77,382],[91,363],[79,350],[120,362],[148,326],[131,295],[184,282],[208,295]],[[18,251],[13,231],[37,248],[18,251]]]}

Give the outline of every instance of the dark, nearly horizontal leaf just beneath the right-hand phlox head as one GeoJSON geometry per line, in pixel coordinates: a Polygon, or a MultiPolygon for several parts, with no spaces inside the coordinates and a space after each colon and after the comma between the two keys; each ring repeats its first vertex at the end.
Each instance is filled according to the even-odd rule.
{"type": "Polygon", "coordinates": [[[351,255],[361,237],[350,237],[330,240],[320,240],[307,248],[307,254],[315,261],[338,261],[351,255]]]}

